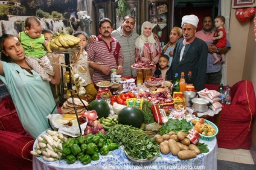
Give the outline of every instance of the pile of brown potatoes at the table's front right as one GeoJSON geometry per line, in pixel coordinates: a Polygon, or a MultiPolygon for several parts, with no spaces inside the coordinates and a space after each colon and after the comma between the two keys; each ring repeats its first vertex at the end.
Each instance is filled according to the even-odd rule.
{"type": "Polygon", "coordinates": [[[184,132],[170,131],[168,134],[156,134],[155,141],[159,143],[160,151],[162,154],[171,153],[179,159],[192,159],[200,154],[199,148],[190,142],[187,134],[184,132]]]}

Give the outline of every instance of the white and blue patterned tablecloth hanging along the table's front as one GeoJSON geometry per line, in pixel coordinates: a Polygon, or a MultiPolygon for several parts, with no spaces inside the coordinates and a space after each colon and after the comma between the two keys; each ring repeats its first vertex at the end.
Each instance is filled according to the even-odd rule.
{"type": "Polygon", "coordinates": [[[33,169],[217,169],[217,140],[214,137],[211,141],[200,139],[200,143],[208,145],[210,152],[199,154],[194,159],[180,160],[178,156],[160,154],[160,156],[150,163],[132,162],[126,157],[124,151],[110,151],[107,156],[100,156],[100,160],[92,161],[88,165],[80,162],[66,164],[65,160],[56,162],[46,162],[42,157],[33,157],[33,169]]]}

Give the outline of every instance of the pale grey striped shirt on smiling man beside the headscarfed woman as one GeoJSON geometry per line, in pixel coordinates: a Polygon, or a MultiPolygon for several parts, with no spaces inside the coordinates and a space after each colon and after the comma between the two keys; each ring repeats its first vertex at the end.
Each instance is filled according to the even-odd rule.
{"type": "Polygon", "coordinates": [[[132,30],[132,33],[127,37],[123,34],[123,31],[121,31],[121,27],[119,27],[112,32],[111,36],[118,40],[124,54],[124,72],[122,75],[132,75],[133,77],[136,77],[136,69],[133,69],[130,66],[135,63],[135,41],[139,35],[136,31],[132,30]]]}

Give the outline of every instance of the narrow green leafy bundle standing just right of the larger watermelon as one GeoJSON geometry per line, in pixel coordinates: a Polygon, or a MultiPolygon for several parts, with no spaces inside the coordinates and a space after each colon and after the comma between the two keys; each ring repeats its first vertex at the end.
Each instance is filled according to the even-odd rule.
{"type": "Polygon", "coordinates": [[[143,100],[141,112],[143,113],[145,124],[152,124],[153,122],[155,122],[155,119],[153,117],[153,113],[151,110],[151,105],[152,103],[147,99],[143,100]]]}

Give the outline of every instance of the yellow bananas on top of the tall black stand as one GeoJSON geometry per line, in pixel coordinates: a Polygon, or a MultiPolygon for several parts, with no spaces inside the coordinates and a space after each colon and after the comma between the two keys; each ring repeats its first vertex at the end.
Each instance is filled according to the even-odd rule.
{"type": "Polygon", "coordinates": [[[65,33],[54,33],[53,39],[47,43],[46,49],[48,52],[53,52],[58,49],[71,49],[79,46],[80,39],[65,33]]]}

